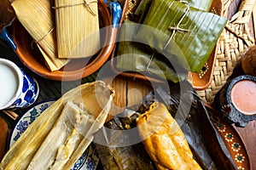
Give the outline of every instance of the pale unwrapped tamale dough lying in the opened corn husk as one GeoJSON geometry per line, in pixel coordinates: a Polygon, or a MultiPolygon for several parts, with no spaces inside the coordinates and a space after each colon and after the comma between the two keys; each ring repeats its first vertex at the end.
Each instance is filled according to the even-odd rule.
{"type": "MultiPolygon", "coordinates": [[[[60,118],[32,158],[28,169],[63,169],[94,121],[95,116],[68,101],[60,118]],[[51,141],[55,143],[52,144],[51,141]]],[[[91,140],[92,135],[87,143],[90,144],[91,140]]]]}

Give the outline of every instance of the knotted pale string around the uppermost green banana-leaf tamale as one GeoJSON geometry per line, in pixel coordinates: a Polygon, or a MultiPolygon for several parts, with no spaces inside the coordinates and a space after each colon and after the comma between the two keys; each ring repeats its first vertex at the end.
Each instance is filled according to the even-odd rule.
{"type": "Polygon", "coordinates": [[[184,20],[186,14],[189,13],[189,5],[187,4],[186,1],[182,1],[183,3],[186,4],[186,11],[185,13],[183,14],[183,16],[181,17],[181,19],[178,21],[177,23],[177,26],[169,26],[168,29],[172,31],[172,35],[169,37],[168,41],[166,42],[164,48],[162,48],[162,51],[164,51],[166,49],[166,47],[168,46],[168,44],[171,42],[172,38],[174,37],[176,31],[182,31],[182,32],[188,32],[189,30],[188,29],[183,29],[183,28],[180,28],[179,26],[181,25],[182,21],[184,20]]]}

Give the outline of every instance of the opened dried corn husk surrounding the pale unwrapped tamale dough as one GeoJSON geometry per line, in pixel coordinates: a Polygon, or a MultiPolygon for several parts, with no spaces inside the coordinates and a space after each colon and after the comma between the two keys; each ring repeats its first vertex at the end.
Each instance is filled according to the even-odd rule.
{"type": "MultiPolygon", "coordinates": [[[[72,113],[69,113],[68,115],[67,112],[65,113],[65,110],[71,109],[70,106],[72,106],[73,108],[73,105],[77,105],[74,107],[73,113],[77,114],[77,111],[86,110],[87,113],[90,112],[91,116],[95,116],[96,119],[94,122],[92,122],[92,124],[86,123],[85,127],[79,128],[87,128],[88,131],[84,133],[83,139],[80,138],[81,136],[79,137],[79,141],[77,141],[78,144],[76,144],[75,148],[68,149],[68,151],[72,151],[72,155],[70,156],[68,154],[68,156],[70,157],[68,157],[68,160],[65,161],[65,164],[61,164],[61,166],[63,166],[63,169],[67,169],[67,167],[72,167],[73,163],[78,160],[79,156],[82,155],[84,150],[86,150],[87,146],[90,144],[90,141],[93,139],[93,133],[101,128],[103,123],[105,122],[108,116],[108,111],[110,109],[111,101],[113,99],[113,94],[113,89],[109,88],[105,85],[104,82],[100,81],[85,83],[80,85],[78,88],[73,88],[72,90],[67,92],[67,94],[64,94],[61,99],[58,99],[53,105],[50,105],[49,108],[44,111],[44,113],[39,116],[38,119],[33,122],[31,126],[26,129],[25,133],[20,136],[20,139],[15,142],[15,144],[3,157],[3,161],[0,163],[0,169],[26,169],[27,166],[31,163],[32,158],[34,156],[37,157],[37,152],[43,150],[42,148],[45,146],[45,143],[46,145],[48,145],[47,143],[49,142],[49,145],[53,145],[51,147],[55,147],[56,145],[58,145],[58,148],[61,148],[65,146],[65,144],[61,146],[59,141],[55,141],[55,139],[49,140],[48,138],[55,138],[51,136],[53,133],[55,133],[55,135],[57,134],[58,137],[60,134],[64,136],[66,135],[61,128],[59,128],[59,131],[61,132],[57,132],[59,126],[58,118],[60,117],[59,120],[67,120],[68,117],[69,120],[74,120],[74,117],[70,118],[70,114],[72,113]],[[72,101],[73,104],[67,105],[67,101],[72,101]],[[64,107],[66,107],[65,110],[64,107]],[[79,109],[77,107],[79,107],[79,109]],[[62,115],[63,111],[64,115],[62,115]],[[87,127],[87,125],[89,125],[89,128],[87,127]]],[[[86,112],[84,113],[85,115],[87,114],[86,112]]],[[[83,115],[80,115],[79,113],[79,116],[83,115]]],[[[86,120],[86,118],[84,118],[84,120],[86,120]]],[[[74,123],[72,129],[73,127],[80,126],[83,123],[84,122],[74,123]]],[[[71,131],[71,129],[69,129],[69,131],[71,131]]],[[[78,133],[73,132],[73,135],[77,136],[78,133]]],[[[65,140],[67,141],[67,143],[74,141],[74,136],[67,136],[69,136],[69,138],[65,140]]],[[[41,154],[40,156],[42,156],[43,160],[47,156],[49,156],[49,159],[55,159],[55,156],[52,157],[51,155],[54,152],[48,150],[47,147],[42,153],[44,154],[41,154]]],[[[43,160],[41,159],[40,161],[43,160]]],[[[38,164],[37,169],[40,168],[45,167],[40,167],[40,164],[38,164]]]]}

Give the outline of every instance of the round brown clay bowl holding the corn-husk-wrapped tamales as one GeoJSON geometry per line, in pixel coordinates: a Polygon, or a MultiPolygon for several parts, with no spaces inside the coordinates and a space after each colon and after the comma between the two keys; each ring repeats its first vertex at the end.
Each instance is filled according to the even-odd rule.
{"type": "Polygon", "coordinates": [[[18,20],[13,23],[13,39],[17,46],[16,53],[20,60],[30,70],[34,71],[41,77],[56,81],[73,81],[90,76],[96,72],[108,59],[113,51],[116,37],[116,28],[112,25],[112,16],[108,7],[103,1],[98,1],[100,28],[104,29],[101,40],[106,44],[101,50],[90,59],[71,59],[64,68],[59,71],[49,71],[44,63],[44,57],[39,49],[34,45],[32,47],[32,37],[26,29],[21,26],[18,20]]]}

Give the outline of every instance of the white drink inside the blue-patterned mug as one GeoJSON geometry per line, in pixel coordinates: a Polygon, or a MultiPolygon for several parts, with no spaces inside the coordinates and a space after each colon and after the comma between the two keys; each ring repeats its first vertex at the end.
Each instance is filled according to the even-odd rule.
{"type": "Polygon", "coordinates": [[[18,75],[13,68],[0,62],[0,107],[7,105],[18,90],[18,75]]]}

